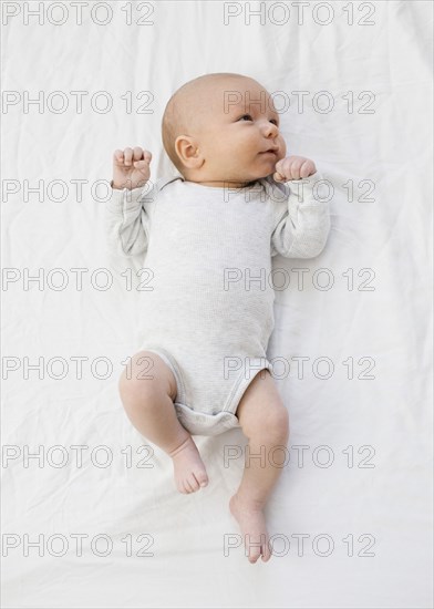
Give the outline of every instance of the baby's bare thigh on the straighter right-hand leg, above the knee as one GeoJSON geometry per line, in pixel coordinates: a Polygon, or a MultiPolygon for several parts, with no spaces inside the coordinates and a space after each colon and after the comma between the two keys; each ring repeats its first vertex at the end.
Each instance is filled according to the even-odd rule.
{"type": "Polygon", "coordinates": [[[247,437],[279,434],[288,429],[288,411],[269,370],[256,374],[238,404],[236,415],[247,437]]]}

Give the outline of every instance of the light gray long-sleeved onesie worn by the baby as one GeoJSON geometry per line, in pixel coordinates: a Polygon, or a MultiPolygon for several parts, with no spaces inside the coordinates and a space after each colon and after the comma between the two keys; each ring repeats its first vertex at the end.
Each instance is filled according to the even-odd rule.
{"type": "Polygon", "coordinates": [[[330,213],[313,196],[320,179],[317,172],[228,189],[177,176],[113,190],[108,246],[143,256],[152,278],[152,290],[142,292],[138,350],[157,353],[173,371],[175,411],[192,434],[239,426],[236,410],[247,386],[260,370],[272,374],[266,355],[275,324],[271,257],[322,251],[330,213]]]}

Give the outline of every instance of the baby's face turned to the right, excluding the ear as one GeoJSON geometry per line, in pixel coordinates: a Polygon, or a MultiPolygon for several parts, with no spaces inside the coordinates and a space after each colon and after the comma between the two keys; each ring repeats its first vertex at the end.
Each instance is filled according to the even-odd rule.
{"type": "Polygon", "coordinates": [[[198,95],[192,125],[205,159],[198,182],[245,183],[272,174],[286,144],[270,94],[251,79],[231,78],[198,95]]]}

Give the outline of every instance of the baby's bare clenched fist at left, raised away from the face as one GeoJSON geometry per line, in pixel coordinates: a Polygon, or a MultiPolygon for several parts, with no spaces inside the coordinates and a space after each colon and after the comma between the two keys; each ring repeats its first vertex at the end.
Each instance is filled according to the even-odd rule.
{"type": "Polygon", "coordinates": [[[152,154],[136,146],[113,153],[113,188],[140,188],[149,179],[152,154]]]}

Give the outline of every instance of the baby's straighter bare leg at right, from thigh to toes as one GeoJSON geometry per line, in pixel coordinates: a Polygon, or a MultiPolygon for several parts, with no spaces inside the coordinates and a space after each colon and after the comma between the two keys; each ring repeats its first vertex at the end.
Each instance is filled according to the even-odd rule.
{"type": "Polygon", "coordinates": [[[237,409],[242,433],[249,438],[241,484],[230,498],[229,508],[241,528],[250,562],[260,555],[271,557],[262,508],[285,463],[275,446],[286,446],[289,417],[268,370],[259,372],[247,388],[237,409]],[[264,378],[262,378],[264,376],[264,378]],[[279,467],[280,465],[280,467],[279,467]]]}

